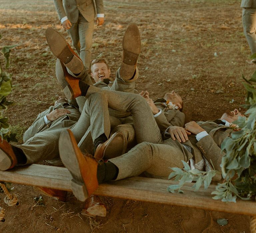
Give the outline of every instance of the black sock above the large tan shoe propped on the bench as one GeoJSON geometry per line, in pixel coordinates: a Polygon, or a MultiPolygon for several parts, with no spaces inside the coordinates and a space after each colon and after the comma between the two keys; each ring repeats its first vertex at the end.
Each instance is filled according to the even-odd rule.
{"type": "Polygon", "coordinates": [[[115,180],[118,176],[118,167],[112,162],[101,162],[97,168],[98,183],[115,180]]]}

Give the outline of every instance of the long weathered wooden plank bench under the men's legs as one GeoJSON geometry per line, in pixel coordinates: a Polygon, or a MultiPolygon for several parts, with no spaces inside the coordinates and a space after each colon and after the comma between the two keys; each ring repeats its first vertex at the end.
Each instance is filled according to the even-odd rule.
{"type": "MultiPolygon", "coordinates": [[[[0,181],[66,191],[72,191],[70,187],[71,178],[67,168],[39,164],[0,171],[0,181]]],[[[186,183],[182,187],[184,193],[168,192],[167,187],[175,183],[177,182],[171,180],[131,177],[100,184],[94,194],[256,216],[256,201],[243,201],[238,198],[236,203],[226,203],[221,200],[213,200],[211,192],[215,190],[215,185],[210,185],[207,190],[201,187],[199,191],[194,192],[191,189],[193,183],[186,183]]]]}

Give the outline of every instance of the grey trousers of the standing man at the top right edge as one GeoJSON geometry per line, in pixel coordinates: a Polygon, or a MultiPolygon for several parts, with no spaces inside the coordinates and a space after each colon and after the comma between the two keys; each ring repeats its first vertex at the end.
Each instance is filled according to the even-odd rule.
{"type": "Polygon", "coordinates": [[[244,35],[250,46],[251,53],[256,53],[256,8],[243,8],[242,22],[244,35]]]}

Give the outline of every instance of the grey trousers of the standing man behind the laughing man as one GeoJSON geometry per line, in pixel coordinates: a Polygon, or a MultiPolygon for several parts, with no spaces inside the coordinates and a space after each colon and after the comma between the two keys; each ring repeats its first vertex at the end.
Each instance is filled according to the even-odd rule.
{"type": "Polygon", "coordinates": [[[94,21],[88,22],[79,12],[77,22],[72,23],[71,28],[68,29],[72,45],[80,51],[79,56],[87,70],[91,63],[93,28],[94,21]]]}

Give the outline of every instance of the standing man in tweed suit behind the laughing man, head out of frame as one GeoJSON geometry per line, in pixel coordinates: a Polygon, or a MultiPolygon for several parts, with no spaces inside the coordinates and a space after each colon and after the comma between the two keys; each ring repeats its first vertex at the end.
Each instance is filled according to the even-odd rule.
{"type": "Polygon", "coordinates": [[[104,23],[103,0],[54,0],[55,8],[63,28],[68,30],[75,49],[85,67],[89,69],[91,61],[94,17],[97,25],[104,23]]]}

